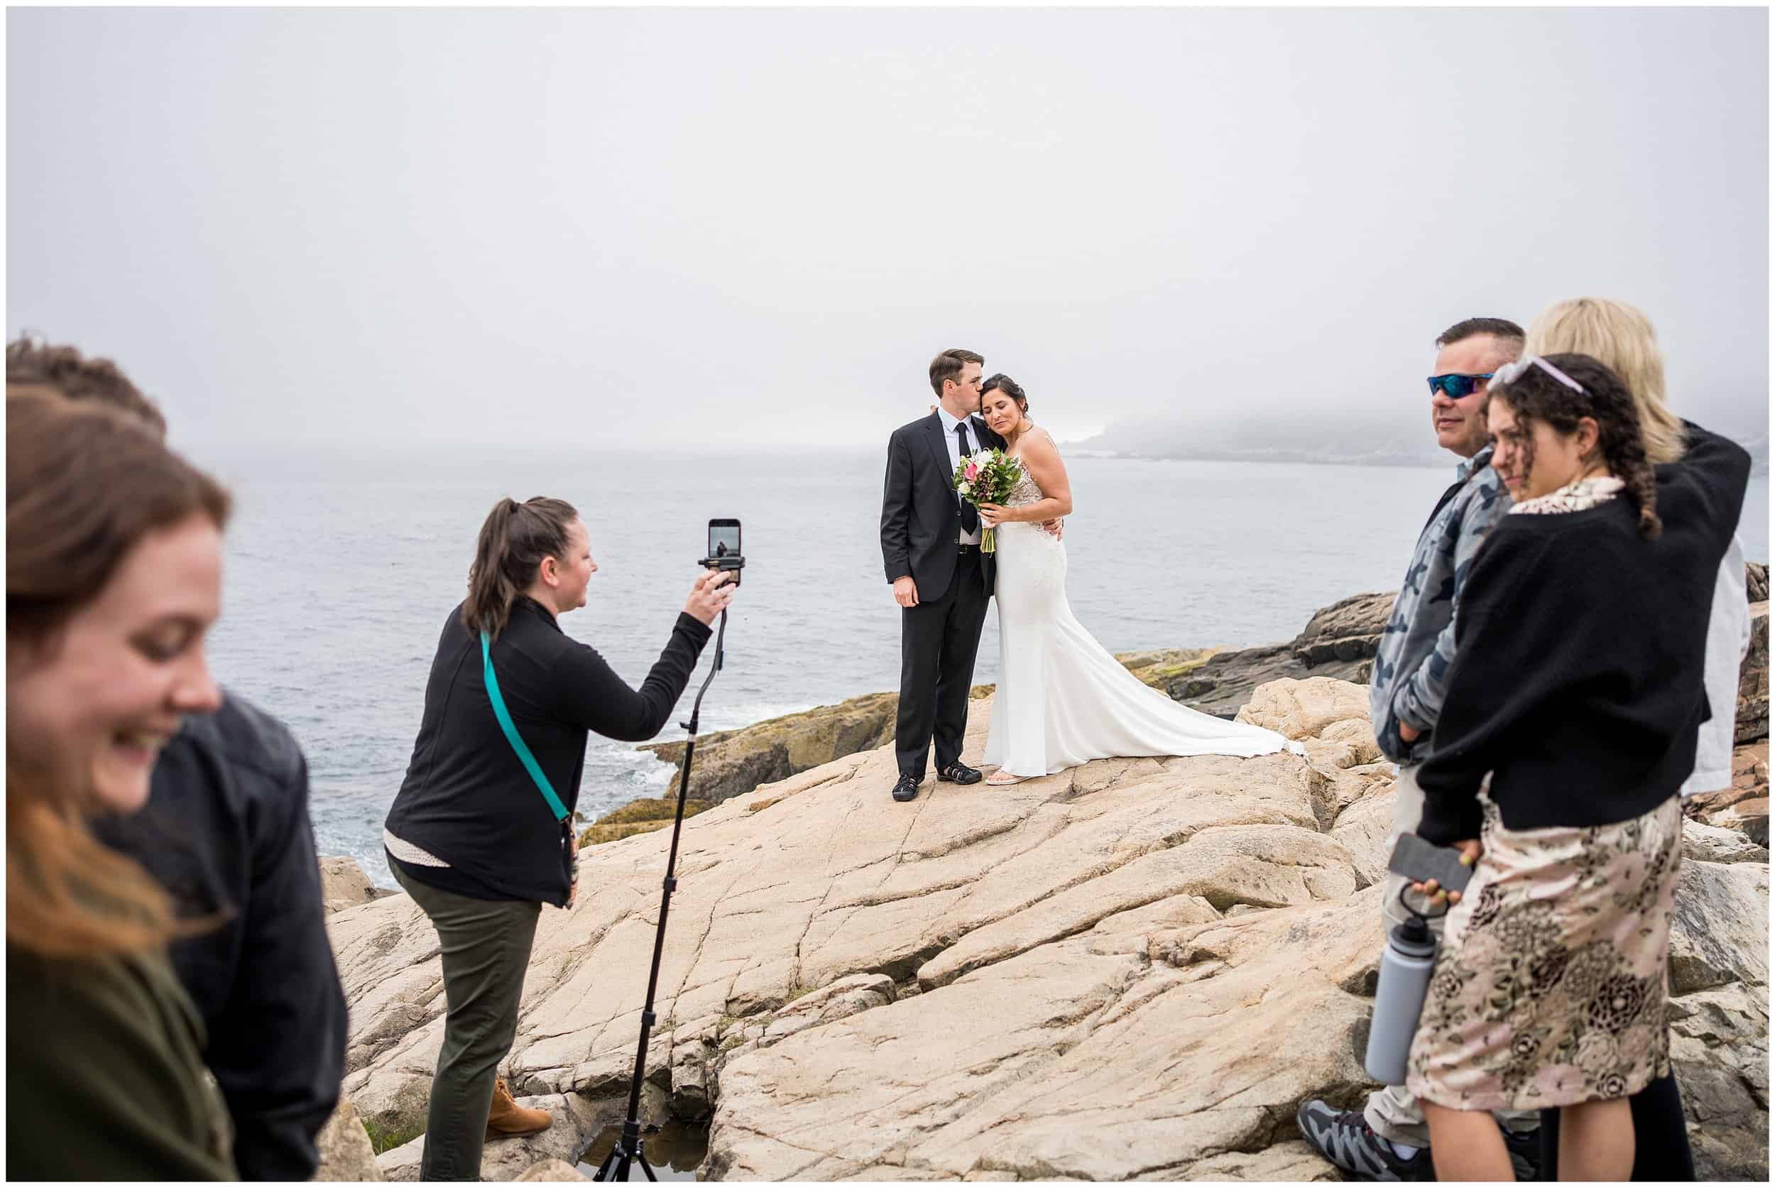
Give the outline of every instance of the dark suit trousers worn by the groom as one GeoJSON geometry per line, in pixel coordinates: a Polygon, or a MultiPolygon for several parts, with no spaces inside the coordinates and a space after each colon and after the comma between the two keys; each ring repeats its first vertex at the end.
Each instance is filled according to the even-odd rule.
{"type": "Polygon", "coordinates": [[[962,756],[967,693],[990,591],[978,549],[955,561],[941,598],[925,598],[921,590],[918,606],[900,609],[900,717],[893,742],[902,776],[925,778],[932,742],[937,771],[962,756]]]}

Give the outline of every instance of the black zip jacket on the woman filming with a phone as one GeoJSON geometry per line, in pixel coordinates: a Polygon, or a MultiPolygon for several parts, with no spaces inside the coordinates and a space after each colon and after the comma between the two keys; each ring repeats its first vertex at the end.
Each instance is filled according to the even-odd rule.
{"type": "MultiPolygon", "coordinates": [[[[593,648],[563,634],[541,604],[518,598],[511,607],[492,646],[493,675],[513,725],[568,813],[579,803],[588,732],[632,742],[659,733],[708,636],[708,627],[680,614],[635,691],[593,648]]],[[[442,872],[401,863],[422,883],[477,899],[566,904],[572,815],[566,826],[556,822],[499,728],[481,678],[481,638],[462,625],[460,606],[438,636],[414,758],[387,828],[451,865],[442,872]]]]}

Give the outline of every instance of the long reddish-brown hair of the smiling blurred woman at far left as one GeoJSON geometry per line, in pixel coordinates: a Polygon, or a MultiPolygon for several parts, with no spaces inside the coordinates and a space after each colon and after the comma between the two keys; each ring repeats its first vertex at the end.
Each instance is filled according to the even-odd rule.
{"type": "MultiPolygon", "coordinates": [[[[7,384],[5,453],[9,662],[53,653],[67,620],[149,533],[192,515],[227,524],[227,492],[169,451],[151,424],[51,387],[7,384]]],[[[142,867],[87,831],[91,797],[66,776],[28,771],[7,746],[9,945],[98,955],[190,931],[142,867]]]]}

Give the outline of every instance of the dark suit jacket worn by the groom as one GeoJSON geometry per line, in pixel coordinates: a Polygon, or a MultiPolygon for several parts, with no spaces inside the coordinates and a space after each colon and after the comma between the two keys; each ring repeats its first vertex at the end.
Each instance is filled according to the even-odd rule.
{"type": "MultiPolygon", "coordinates": [[[[980,417],[967,419],[978,447],[1005,447],[1005,439],[980,417]]],[[[888,581],[912,575],[919,602],[941,598],[955,577],[955,542],[962,535],[962,503],[950,487],[955,467],[943,417],[932,412],[902,424],[888,439],[888,479],[882,487],[882,563],[888,581]]],[[[987,590],[996,575],[992,554],[980,558],[987,590]]]]}

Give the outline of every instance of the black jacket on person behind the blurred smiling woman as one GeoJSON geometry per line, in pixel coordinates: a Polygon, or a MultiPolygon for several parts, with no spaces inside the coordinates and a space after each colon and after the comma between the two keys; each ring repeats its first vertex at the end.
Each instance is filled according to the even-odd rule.
{"type": "Polygon", "coordinates": [[[309,767],[289,730],[245,698],[185,719],[147,804],[94,822],[183,913],[227,913],[174,941],[172,968],[202,1016],[204,1062],[234,1119],[243,1179],[307,1179],[339,1103],[346,1005],[327,939],[309,822],[309,767]]]}

